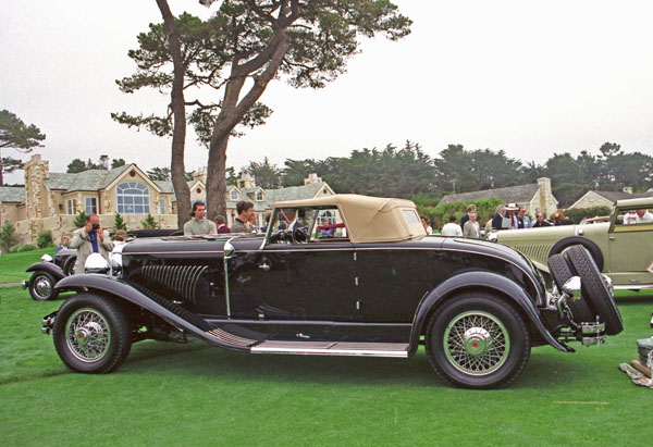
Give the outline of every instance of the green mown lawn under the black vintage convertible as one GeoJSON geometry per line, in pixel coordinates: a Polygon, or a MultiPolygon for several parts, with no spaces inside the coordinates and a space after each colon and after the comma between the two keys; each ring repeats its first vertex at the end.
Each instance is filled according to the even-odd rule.
{"type": "Polygon", "coordinates": [[[653,333],[653,293],[619,294],[626,330],[606,345],[533,348],[520,378],[490,392],[451,388],[421,349],[396,360],[144,342],[112,374],[74,374],[39,331],[61,301],[33,301],[20,287],[0,294],[2,445],[651,443],[653,393],[618,363],[653,333]]]}

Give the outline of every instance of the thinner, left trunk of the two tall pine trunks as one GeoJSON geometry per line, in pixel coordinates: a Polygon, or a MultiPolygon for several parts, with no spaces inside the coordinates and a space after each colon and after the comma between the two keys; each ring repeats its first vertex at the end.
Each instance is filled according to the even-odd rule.
{"type": "Polygon", "coordinates": [[[173,115],[172,153],[170,173],[172,186],[177,201],[177,227],[183,228],[184,223],[190,218],[190,188],[186,183],[186,167],[184,165],[184,150],[186,144],[186,104],[184,100],[184,64],[182,60],[182,42],[180,32],[174,23],[167,0],[157,0],[157,5],[165,23],[165,32],[170,41],[174,79],[172,82],[171,108],[173,115]]]}

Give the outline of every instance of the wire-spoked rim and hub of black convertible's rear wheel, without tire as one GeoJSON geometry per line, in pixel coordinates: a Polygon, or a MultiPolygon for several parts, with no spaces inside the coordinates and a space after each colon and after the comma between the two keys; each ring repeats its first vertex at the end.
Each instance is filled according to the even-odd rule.
{"type": "Polygon", "coordinates": [[[449,322],[443,345],[446,358],[458,371],[485,375],[505,363],[510,338],[496,316],[482,311],[469,311],[449,322]]]}

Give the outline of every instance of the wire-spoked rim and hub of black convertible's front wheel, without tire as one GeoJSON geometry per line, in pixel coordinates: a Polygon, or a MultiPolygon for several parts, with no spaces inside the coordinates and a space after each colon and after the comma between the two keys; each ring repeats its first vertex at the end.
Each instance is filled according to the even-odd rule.
{"type": "Polygon", "coordinates": [[[95,309],[79,309],[67,320],[66,344],[73,356],[84,362],[100,360],[109,351],[111,332],[104,316],[95,309]]]}

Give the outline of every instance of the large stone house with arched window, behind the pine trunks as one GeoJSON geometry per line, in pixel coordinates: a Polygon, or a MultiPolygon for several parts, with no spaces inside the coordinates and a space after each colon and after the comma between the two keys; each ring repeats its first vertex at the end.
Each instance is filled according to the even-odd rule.
{"type": "MultiPolygon", "coordinates": [[[[34,244],[38,233],[50,229],[54,241],[70,235],[81,211],[96,213],[100,223],[112,228],[120,213],[128,229],[141,228],[141,221],[151,214],[161,228],[177,226],[176,198],[172,182],[152,181],[136,164],[112,170],[89,170],[81,173],[53,173],[39,154],[25,163],[24,187],[0,187],[0,223],[14,223],[21,244],[34,244]]],[[[188,182],[190,200],[205,200],[206,170],[194,173],[188,182]]],[[[333,189],[311,174],[305,185],[266,190],[254,178],[243,175],[238,184],[227,188],[227,224],[236,216],[236,202],[251,201],[257,212],[257,225],[263,226],[264,211],[274,201],[297,200],[333,195],[333,189]]],[[[213,218],[213,216],[210,216],[213,218]]],[[[190,216],[188,216],[190,219],[190,216]]]]}

